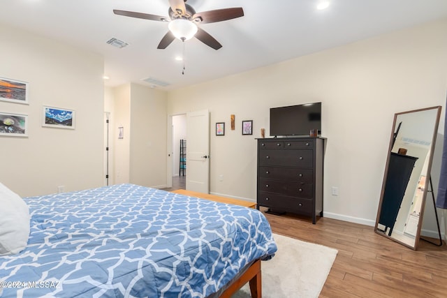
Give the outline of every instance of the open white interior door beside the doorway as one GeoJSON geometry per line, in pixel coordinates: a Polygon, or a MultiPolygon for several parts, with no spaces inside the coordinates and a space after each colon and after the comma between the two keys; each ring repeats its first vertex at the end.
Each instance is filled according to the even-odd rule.
{"type": "Polygon", "coordinates": [[[210,112],[186,113],[186,189],[210,192],[210,112]]]}

